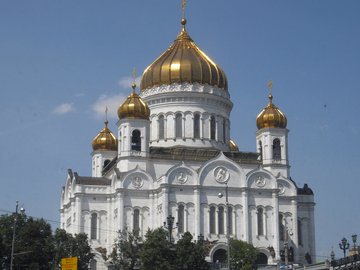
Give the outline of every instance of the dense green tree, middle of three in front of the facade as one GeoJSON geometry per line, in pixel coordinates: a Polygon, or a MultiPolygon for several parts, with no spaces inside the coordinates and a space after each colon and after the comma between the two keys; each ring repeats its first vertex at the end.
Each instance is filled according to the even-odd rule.
{"type": "Polygon", "coordinates": [[[172,270],[174,268],[175,251],[167,240],[168,232],[163,228],[148,230],[140,252],[141,269],[172,270]]]}

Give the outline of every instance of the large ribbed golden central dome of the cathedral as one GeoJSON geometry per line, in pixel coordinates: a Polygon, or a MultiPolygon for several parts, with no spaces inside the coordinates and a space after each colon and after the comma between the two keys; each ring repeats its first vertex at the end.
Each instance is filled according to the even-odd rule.
{"type": "Polygon", "coordinates": [[[172,83],[209,84],[227,90],[228,83],[224,71],[212,61],[183,28],[174,43],[148,66],[142,76],[140,90],[172,83]]]}

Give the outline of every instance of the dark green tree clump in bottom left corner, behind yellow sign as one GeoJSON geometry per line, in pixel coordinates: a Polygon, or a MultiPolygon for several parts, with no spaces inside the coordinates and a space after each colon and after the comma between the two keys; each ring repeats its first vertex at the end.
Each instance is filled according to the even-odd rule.
{"type": "Polygon", "coordinates": [[[65,257],[78,257],[79,269],[88,269],[93,254],[86,234],[57,229],[53,235],[44,219],[23,214],[0,216],[0,269],[10,269],[14,224],[14,269],[54,269],[65,257]]]}

